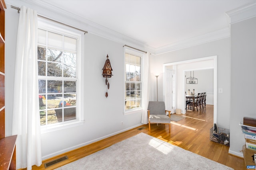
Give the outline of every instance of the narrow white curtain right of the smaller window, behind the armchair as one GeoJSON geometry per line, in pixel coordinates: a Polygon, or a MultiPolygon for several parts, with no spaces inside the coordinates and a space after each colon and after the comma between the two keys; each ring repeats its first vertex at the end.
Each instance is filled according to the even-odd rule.
{"type": "Polygon", "coordinates": [[[146,53],[143,57],[143,92],[142,93],[142,107],[144,108],[142,112],[141,123],[148,124],[148,100],[150,92],[150,67],[149,67],[149,53],[146,53]]]}

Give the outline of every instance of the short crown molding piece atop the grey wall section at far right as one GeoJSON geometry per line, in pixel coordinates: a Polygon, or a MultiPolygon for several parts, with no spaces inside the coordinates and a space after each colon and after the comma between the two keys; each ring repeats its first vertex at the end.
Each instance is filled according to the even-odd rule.
{"type": "Polygon", "coordinates": [[[256,3],[236,8],[226,14],[230,17],[230,24],[253,18],[256,16],[256,3]]]}

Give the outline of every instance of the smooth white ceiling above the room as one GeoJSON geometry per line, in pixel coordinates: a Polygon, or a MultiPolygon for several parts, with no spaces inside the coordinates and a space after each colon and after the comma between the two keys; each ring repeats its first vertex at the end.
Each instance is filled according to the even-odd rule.
{"type": "MultiPolygon", "coordinates": [[[[11,2],[12,0],[6,0],[11,2]]],[[[229,29],[226,12],[256,0],[34,0],[161,49],[229,29]]]]}

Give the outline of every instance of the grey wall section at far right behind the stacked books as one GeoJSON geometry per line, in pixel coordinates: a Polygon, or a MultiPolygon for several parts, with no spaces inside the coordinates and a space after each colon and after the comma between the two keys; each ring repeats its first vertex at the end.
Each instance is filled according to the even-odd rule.
{"type": "Polygon", "coordinates": [[[230,153],[239,153],[245,144],[238,125],[243,117],[256,118],[256,17],[231,24],[231,114],[230,153]],[[241,96],[238,96],[241,94],[241,96]]]}

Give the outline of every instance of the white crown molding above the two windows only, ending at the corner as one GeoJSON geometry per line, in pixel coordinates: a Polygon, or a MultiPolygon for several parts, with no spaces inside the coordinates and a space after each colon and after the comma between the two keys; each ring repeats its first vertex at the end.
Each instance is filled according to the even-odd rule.
{"type": "Polygon", "coordinates": [[[67,23],[68,25],[72,25],[73,27],[77,27],[79,29],[83,29],[88,31],[88,33],[92,33],[94,35],[98,35],[100,37],[104,37],[111,41],[115,41],[117,43],[121,43],[123,45],[131,45],[136,48],[142,48],[144,51],[152,51],[153,47],[146,45],[146,43],[141,42],[137,39],[128,37],[112,29],[94,23],[86,18],[82,18],[80,16],[74,15],[72,12],[60,10],[60,8],[56,6],[49,5],[47,1],[32,1],[32,0],[18,0],[18,1],[9,1],[6,0],[6,3],[9,5],[16,6],[21,8],[21,6],[27,6],[37,11],[38,14],[44,16],[46,18],[50,18],[52,20],[56,20],[62,23],[67,23]]]}

